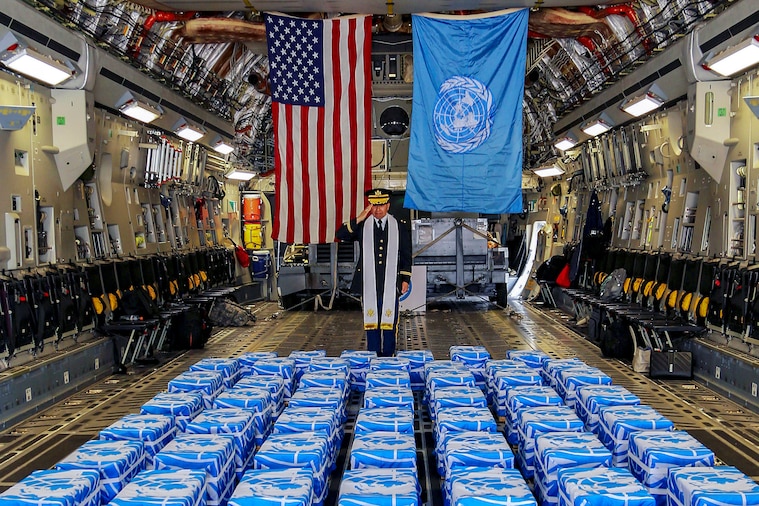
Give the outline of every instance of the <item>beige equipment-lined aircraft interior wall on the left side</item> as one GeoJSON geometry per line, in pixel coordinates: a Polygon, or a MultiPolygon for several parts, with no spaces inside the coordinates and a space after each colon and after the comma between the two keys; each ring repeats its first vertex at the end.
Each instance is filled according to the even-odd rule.
{"type": "Polygon", "coordinates": [[[204,147],[100,107],[92,131],[77,132],[94,138],[92,160],[64,188],[53,126],[71,117],[55,117],[54,102],[50,90],[0,75],[4,108],[34,107],[23,127],[0,132],[4,270],[229,246],[225,237],[240,235],[239,187],[205,163],[204,147]],[[148,163],[163,147],[175,172],[156,184],[148,163]]]}

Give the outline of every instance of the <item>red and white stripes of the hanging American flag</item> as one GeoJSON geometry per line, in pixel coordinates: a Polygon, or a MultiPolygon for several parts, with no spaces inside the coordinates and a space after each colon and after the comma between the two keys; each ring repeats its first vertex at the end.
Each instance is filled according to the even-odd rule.
{"type": "Polygon", "coordinates": [[[371,16],[324,20],[324,107],[272,103],[273,238],[328,243],[371,188],[371,16]]]}

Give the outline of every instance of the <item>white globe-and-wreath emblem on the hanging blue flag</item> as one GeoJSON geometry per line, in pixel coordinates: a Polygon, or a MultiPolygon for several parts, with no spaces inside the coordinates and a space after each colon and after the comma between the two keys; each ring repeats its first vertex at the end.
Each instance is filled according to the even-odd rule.
{"type": "Polygon", "coordinates": [[[440,85],[432,113],[435,140],[450,153],[467,153],[490,137],[493,95],[482,82],[454,76],[440,85]]]}

